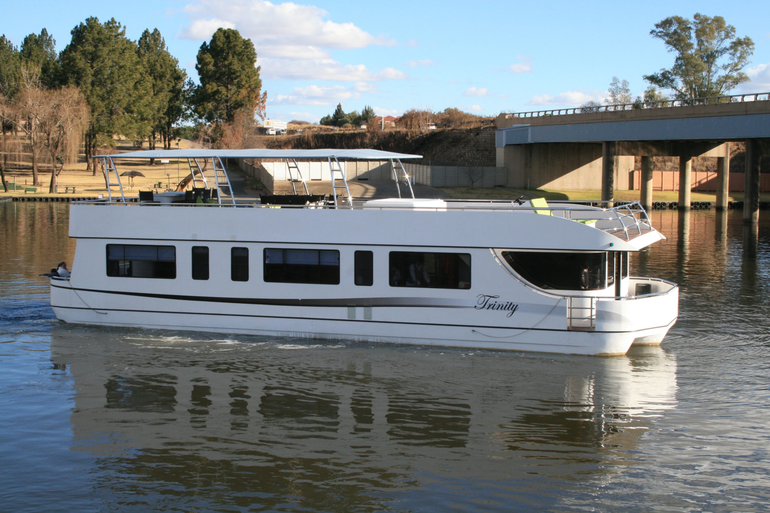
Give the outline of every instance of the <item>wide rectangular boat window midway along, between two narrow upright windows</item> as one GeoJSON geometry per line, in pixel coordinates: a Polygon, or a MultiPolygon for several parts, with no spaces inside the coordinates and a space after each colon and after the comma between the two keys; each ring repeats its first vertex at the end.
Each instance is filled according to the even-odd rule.
{"type": "Polygon", "coordinates": [[[266,248],[264,280],[277,283],[340,283],[340,252],[332,249],[266,248]]]}

